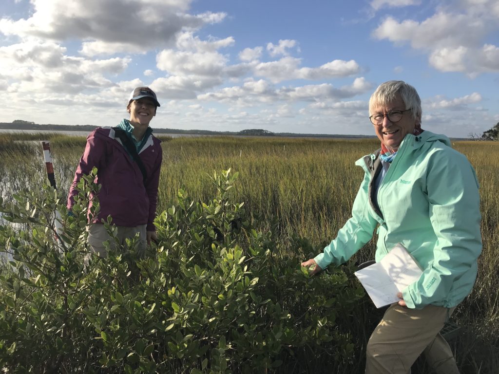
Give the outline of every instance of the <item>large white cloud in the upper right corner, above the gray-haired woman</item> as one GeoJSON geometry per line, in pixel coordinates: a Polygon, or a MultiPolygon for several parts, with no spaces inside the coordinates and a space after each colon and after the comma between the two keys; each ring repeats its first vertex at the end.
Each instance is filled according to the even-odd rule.
{"type": "Polygon", "coordinates": [[[388,16],[372,35],[395,44],[409,43],[412,48],[428,53],[429,64],[443,72],[476,76],[485,71],[499,71],[497,47],[483,42],[498,28],[499,12],[494,16],[495,5],[490,0],[465,1],[468,8],[462,11],[457,7],[452,11],[442,8],[421,22],[398,21],[388,16]]]}

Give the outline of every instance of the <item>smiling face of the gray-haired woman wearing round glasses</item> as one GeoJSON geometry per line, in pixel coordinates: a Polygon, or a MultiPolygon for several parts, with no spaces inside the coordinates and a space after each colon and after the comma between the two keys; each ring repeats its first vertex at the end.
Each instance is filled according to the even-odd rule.
{"type": "MultiPolygon", "coordinates": [[[[371,114],[387,114],[394,110],[403,111],[406,108],[404,101],[397,96],[393,101],[373,108],[371,114]]],[[[389,150],[397,151],[402,140],[407,134],[412,134],[414,128],[420,123],[419,118],[413,118],[411,111],[404,112],[400,121],[392,123],[385,116],[381,125],[374,125],[377,137],[389,150]]]]}

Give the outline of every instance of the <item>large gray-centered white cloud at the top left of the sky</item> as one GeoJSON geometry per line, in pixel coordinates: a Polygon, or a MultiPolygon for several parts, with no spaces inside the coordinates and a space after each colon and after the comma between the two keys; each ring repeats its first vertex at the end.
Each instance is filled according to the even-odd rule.
{"type": "Polygon", "coordinates": [[[191,0],[31,0],[27,19],[0,20],[0,32],[63,41],[83,40],[85,55],[145,52],[175,41],[183,29],[222,21],[225,13],[185,13],[191,0]]]}

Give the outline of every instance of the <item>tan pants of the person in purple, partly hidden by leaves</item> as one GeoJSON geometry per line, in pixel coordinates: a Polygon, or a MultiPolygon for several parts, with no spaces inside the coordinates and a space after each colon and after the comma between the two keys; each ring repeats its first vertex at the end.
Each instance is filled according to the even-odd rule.
{"type": "MultiPolygon", "coordinates": [[[[88,244],[90,245],[90,249],[93,253],[98,254],[100,257],[106,257],[107,251],[104,246],[104,241],[109,240],[111,246],[116,244],[126,245],[126,239],[134,237],[138,232],[139,244],[137,246],[137,253],[141,256],[144,254],[147,246],[146,226],[146,224],[135,227],[113,226],[115,230],[114,233],[119,240],[119,243],[116,243],[114,239],[109,236],[102,223],[91,223],[87,227],[88,244]]],[[[88,259],[90,258],[88,257],[88,259]]]]}

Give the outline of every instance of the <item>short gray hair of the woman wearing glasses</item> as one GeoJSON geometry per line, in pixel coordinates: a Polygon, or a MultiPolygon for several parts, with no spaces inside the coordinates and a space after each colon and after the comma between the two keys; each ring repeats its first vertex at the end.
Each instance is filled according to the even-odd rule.
{"type": "Polygon", "coordinates": [[[380,105],[386,105],[400,97],[405,104],[405,109],[411,109],[413,118],[421,120],[421,99],[416,89],[402,80],[390,80],[381,83],[369,99],[369,115],[373,109],[380,105]]]}

